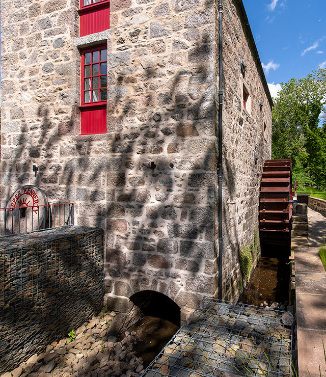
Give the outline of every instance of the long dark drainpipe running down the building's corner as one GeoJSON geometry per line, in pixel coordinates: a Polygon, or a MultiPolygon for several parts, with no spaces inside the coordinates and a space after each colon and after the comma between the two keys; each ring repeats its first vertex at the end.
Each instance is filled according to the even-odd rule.
{"type": "Polygon", "coordinates": [[[223,110],[223,5],[219,0],[219,300],[222,300],[222,110],[223,110]]]}

